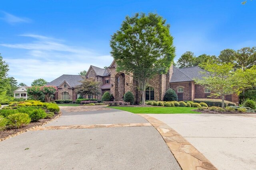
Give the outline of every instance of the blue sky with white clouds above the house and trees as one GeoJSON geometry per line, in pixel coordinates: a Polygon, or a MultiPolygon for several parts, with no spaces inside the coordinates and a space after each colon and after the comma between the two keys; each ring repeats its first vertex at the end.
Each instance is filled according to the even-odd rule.
{"type": "Polygon", "coordinates": [[[112,62],[110,36],[125,16],[156,12],[170,23],[175,61],[256,46],[256,0],[8,0],[0,6],[0,53],[9,76],[30,85],[112,62]]]}

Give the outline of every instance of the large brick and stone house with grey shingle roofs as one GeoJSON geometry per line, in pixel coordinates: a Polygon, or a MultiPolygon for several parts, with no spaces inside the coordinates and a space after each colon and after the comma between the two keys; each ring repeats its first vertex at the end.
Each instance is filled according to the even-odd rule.
{"type": "MultiPolygon", "coordinates": [[[[146,88],[146,100],[158,100],[162,101],[166,90],[169,88],[174,89],[178,95],[179,101],[194,100],[195,98],[209,98],[210,90],[195,84],[194,78],[202,78],[201,68],[197,66],[176,68],[171,65],[166,74],[156,75],[150,80],[148,87],[146,88]]],[[[123,96],[126,92],[131,91],[135,96],[135,101],[138,103],[141,100],[140,90],[138,90],[138,82],[134,80],[132,74],[126,74],[125,72],[116,72],[116,62],[107,68],[98,68],[96,66],[90,66],[86,77],[93,77],[95,81],[100,82],[100,90],[102,94],[108,91],[113,94],[116,101],[123,100],[123,96]]],[[[62,75],[56,78],[47,85],[57,86],[58,92],[52,99],[64,100],[69,99],[75,101],[78,95],[75,92],[75,88],[80,84],[81,76],[78,75],[62,75]]],[[[101,100],[102,94],[99,96],[84,96],[85,98],[97,98],[101,100]]],[[[212,97],[211,97],[212,98],[212,97]]],[[[225,100],[235,102],[238,104],[238,96],[228,95],[225,96],[225,100]]]]}

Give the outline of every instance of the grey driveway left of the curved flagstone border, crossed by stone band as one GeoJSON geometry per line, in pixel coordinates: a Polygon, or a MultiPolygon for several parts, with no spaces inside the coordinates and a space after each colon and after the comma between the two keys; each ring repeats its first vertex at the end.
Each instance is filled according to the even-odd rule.
{"type": "Polygon", "coordinates": [[[104,107],[61,110],[44,127],[0,142],[0,169],[180,170],[143,117],[104,107]]]}

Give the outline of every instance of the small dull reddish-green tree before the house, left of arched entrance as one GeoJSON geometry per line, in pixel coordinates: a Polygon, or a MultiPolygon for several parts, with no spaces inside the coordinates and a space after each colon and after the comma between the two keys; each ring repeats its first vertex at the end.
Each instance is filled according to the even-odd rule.
{"type": "Polygon", "coordinates": [[[101,92],[100,82],[94,80],[94,78],[82,77],[81,84],[76,86],[76,93],[80,96],[84,95],[96,95],[98,96],[101,92]]]}

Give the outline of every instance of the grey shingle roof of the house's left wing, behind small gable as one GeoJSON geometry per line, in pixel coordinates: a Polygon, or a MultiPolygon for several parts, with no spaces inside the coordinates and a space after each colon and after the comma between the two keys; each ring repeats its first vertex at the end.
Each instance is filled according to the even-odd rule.
{"type": "Polygon", "coordinates": [[[82,80],[82,76],[80,76],[80,75],[63,74],[62,76],[56,78],[55,80],[52,80],[51,82],[48,82],[47,85],[58,87],[64,81],[66,81],[71,87],[75,87],[75,86],[81,84],[79,82],[80,80],[82,80]]]}

